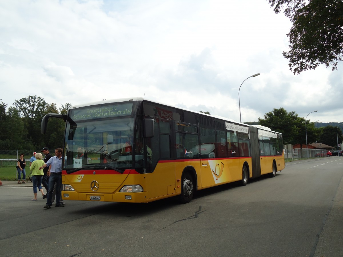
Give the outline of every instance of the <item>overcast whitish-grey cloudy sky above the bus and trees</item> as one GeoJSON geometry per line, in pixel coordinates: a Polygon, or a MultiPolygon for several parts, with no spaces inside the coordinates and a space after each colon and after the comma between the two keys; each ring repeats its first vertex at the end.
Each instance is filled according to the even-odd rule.
{"type": "Polygon", "coordinates": [[[294,75],[266,0],[0,1],[0,99],[60,107],[142,96],[242,122],[274,108],[343,122],[343,66],[294,75]]]}

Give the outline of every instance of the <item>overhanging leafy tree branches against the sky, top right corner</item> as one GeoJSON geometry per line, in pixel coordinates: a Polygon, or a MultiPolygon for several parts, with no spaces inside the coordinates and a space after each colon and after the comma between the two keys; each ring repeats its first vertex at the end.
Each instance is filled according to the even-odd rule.
{"type": "Polygon", "coordinates": [[[293,73],[316,69],[320,64],[337,70],[343,56],[342,0],[268,0],[274,12],[284,10],[292,22],[287,34],[289,60],[293,73]]]}

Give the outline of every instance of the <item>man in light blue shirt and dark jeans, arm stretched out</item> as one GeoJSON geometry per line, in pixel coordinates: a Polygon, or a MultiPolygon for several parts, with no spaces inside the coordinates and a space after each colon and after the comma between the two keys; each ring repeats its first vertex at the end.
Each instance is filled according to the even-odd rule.
{"type": "Polygon", "coordinates": [[[46,205],[44,208],[50,209],[52,205],[52,191],[54,190],[54,184],[57,182],[56,185],[56,204],[55,207],[64,207],[64,205],[60,204],[61,199],[61,185],[62,185],[62,148],[55,149],[55,156],[51,157],[47,163],[45,163],[42,167],[39,167],[39,170],[47,167],[50,167],[50,171],[48,171],[47,175],[50,176],[49,178],[49,191],[46,197],[46,205]]]}

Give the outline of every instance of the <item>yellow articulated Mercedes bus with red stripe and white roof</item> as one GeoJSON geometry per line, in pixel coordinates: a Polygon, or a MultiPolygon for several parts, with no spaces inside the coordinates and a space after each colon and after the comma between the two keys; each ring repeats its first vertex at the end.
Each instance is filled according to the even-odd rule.
{"type": "Polygon", "coordinates": [[[144,98],[71,106],[63,146],[62,198],[148,203],[275,176],[285,167],[282,134],[144,98]]]}

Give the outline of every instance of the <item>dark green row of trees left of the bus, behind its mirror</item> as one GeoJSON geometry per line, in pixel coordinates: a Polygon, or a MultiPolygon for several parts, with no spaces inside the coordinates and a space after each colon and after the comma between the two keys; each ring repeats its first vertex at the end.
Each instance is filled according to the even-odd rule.
{"type": "Polygon", "coordinates": [[[70,103],[66,103],[57,108],[55,103],[47,103],[39,96],[15,100],[8,109],[1,102],[0,150],[63,147],[65,122],[62,119],[49,119],[45,135],[40,133],[40,123],[47,113],[66,114],[70,106],[70,103]]]}

